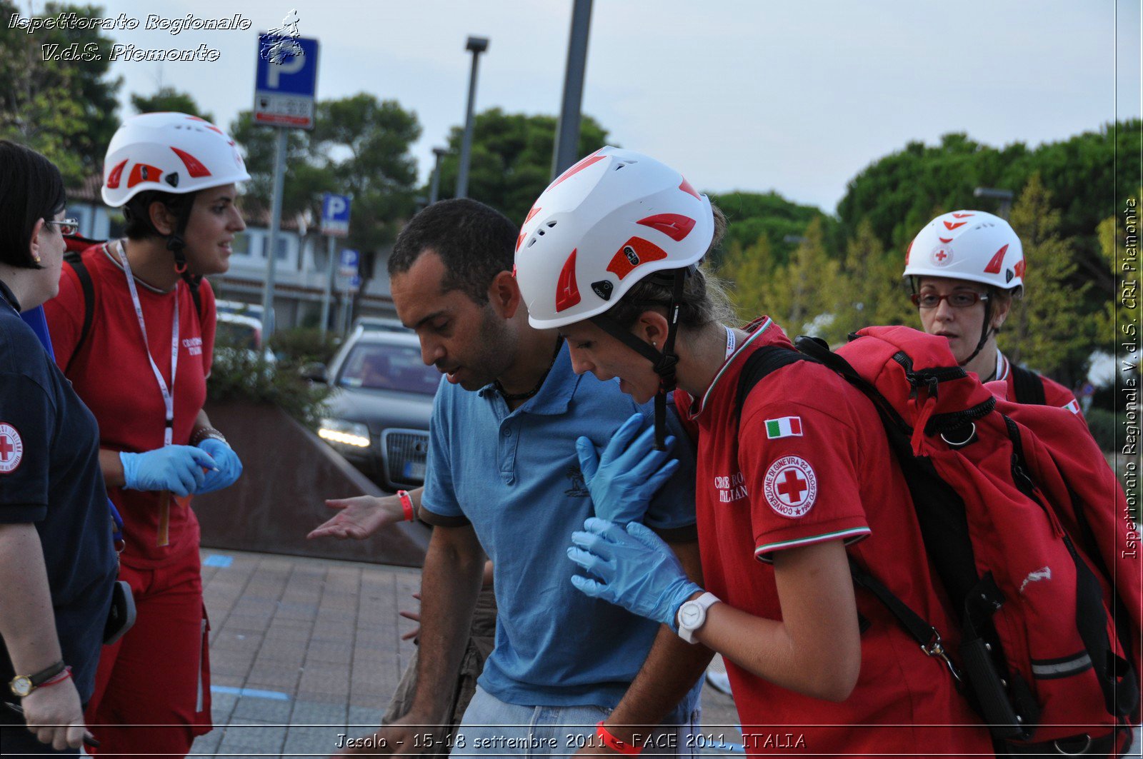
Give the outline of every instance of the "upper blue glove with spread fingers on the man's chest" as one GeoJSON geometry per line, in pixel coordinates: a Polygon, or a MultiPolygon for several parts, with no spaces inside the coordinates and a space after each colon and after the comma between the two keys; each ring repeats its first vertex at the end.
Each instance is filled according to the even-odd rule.
{"type": "Polygon", "coordinates": [[[575,441],[580,471],[600,519],[620,525],[641,520],[652,497],[679,469],[679,461],[670,457],[674,438],[666,439],[666,450],[656,450],[655,425],[639,434],[644,423],[642,414],[624,422],[602,456],[588,438],[575,441]]]}

